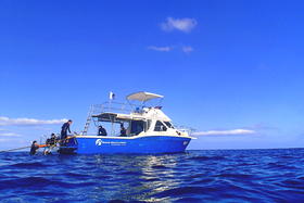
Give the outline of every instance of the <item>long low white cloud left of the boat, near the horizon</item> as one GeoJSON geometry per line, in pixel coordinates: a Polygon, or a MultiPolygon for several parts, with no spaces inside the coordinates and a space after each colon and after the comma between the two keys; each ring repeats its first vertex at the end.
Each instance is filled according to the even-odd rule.
{"type": "Polygon", "coordinates": [[[8,118],[0,117],[0,126],[38,126],[38,125],[56,125],[67,122],[66,118],[62,119],[33,119],[33,118],[8,118]]]}

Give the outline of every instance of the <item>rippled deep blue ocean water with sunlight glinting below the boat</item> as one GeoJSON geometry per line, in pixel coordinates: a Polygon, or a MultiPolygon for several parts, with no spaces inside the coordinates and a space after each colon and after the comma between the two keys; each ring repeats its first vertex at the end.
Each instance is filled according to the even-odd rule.
{"type": "Polygon", "coordinates": [[[304,149],[0,158],[1,202],[304,202],[304,149]]]}

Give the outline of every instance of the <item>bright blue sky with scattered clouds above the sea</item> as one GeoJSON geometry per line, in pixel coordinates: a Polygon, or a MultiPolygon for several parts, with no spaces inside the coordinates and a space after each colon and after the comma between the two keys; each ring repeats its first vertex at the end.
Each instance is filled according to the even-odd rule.
{"type": "MultiPolygon", "coordinates": [[[[188,149],[304,147],[303,1],[0,2],[0,150],[164,96],[188,149]]],[[[91,131],[96,132],[92,128],[91,131]]]]}

